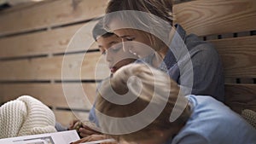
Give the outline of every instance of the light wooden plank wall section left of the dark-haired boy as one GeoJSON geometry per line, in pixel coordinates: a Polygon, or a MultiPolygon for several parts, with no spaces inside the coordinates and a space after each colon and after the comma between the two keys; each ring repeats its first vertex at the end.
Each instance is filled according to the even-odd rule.
{"type": "Polygon", "coordinates": [[[106,5],[107,0],[51,0],[1,11],[0,102],[32,95],[51,107],[61,124],[75,115],[87,118],[84,95],[93,101],[100,56],[91,29],[106,5]],[[63,78],[63,71],[71,74],[63,78]]]}

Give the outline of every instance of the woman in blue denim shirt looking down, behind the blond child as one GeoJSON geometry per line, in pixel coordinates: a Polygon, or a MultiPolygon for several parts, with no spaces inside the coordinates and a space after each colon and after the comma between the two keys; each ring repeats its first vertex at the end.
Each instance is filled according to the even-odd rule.
{"type": "Polygon", "coordinates": [[[104,26],[121,37],[125,51],[168,73],[187,89],[185,95],[212,95],[224,101],[217,51],[197,36],[187,35],[182,26],[172,27],[170,8],[172,3],[164,0],[110,0],[104,26]]]}

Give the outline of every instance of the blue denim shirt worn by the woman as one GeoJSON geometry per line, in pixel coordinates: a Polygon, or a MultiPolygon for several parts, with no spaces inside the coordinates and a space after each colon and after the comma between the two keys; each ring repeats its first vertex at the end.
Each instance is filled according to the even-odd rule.
{"type": "MultiPolygon", "coordinates": [[[[211,95],[224,102],[223,67],[216,49],[194,34],[186,35],[182,26],[176,25],[176,31],[158,68],[183,87],[184,95],[211,95]]],[[[141,60],[152,65],[153,58],[141,60]]]]}

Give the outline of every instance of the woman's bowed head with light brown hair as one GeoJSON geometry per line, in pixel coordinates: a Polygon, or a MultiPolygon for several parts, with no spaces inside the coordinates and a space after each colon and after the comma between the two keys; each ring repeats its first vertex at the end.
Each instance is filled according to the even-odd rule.
{"type": "MultiPolygon", "coordinates": [[[[166,47],[172,30],[172,3],[165,0],[111,0],[106,9],[104,26],[124,42],[147,44],[154,51],[166,47]]],[[[125,50],[144,57],[152,53],[140,46],[126,44],[125,50]]]]}

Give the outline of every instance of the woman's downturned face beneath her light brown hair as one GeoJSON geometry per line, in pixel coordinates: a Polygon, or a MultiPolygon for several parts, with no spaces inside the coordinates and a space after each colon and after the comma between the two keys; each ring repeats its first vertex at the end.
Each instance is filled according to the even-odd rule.
{"type": "Polygon", "coordinates": [[[154,53],[154,49],[147,32],[135,30],[131,28],[114,30],[116,27],[122,25],[119,20],[112,20],[110,22],[110,29],[113,30],[118,37],[121,38],[124,51],[129,51],[139,58],[146,57],[154,53]]]}

